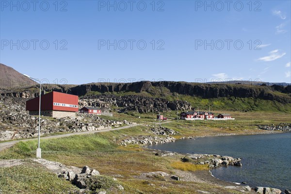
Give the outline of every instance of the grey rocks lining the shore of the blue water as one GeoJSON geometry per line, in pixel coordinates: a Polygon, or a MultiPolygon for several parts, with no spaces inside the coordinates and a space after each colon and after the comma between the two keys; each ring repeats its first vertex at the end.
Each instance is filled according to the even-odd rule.
{"type": "MultiPolygon", "coordinates": [[[[285,128],[281,128],[281,129],[285,129],[285,128]]],[[[164,138],[160,137],[160,136],[129,137],[127,139],[122,140],[120,145],[127,146],[129,144],[136,144],[136,145],[139,145],[141,147],[144,147],[146,145],[152,145],[152,144],[175,142],[176,139],[174,137],[171,137],[171,135],[178,134],[177,131],[175,131],[173,129],[164,128],[164,127],[162,127],[162,128],[150,128],[150,131],[153,133],[153,135],[160,135],[160,136],[163,135],[165,137],[164,138]]],[[[284,132],[284,131],[286,131],[286,130],[262,130],[262,131],[258,131],[255,134],[269,134],[269,133],[278,133],[278,132],[284,132]]],[[[249,134],[249,133],[246,133],[246,134],[249,134]]],[[[236,133],[221,133],[221,134],[215,134],[214,136],[228,136],[228,135],[238,135],[238,134],[236,134],[236,133]]],[[[188,137],[181,137],[180,139],[194,139],[194,138],[206,137],[206,136],[213,136],[213,135],[188,136],[188,137]]],[[[177,152],[161,151],[161,150],[153,150],[153,153],[156,156],[161,156],[161,157],[180,155],[177,152]]],[[[243,165],[241,162],[242,159],[240,159],[240,158],[233,158],[230,156],[220,156],[220,155],[209,155],[209,154],[187,154],[186,156],[181,158],[181,161],[182,162],[191,162],[191,163],[197,164],[197,165],[208,165],[210,167],[210,169],[218,167],[218,166],[227,166],[227,165],[242,166],[243,165]]],[[[180,175],[181,176],[185,175],[185,172],[182,172],[182,173],[180,172],[180,175]]],[[[212,176],[212,175],[210,173],[208,173],[208,176],[212,176]]],[[[164,175],[162,177],[169,177],[169,175],[164,175]]],[[[177,179],[180,180],[181,178],[178,177],[177,179]]],[[[203,179],[211,179],[211,178],[204,175],[203,179]]],[[[213,181],[213,179],[211,181],[213,181]]],[[[219,181],[219,184],[221,184],[220,181],[219,181]]],[[[241,184],[246,184],[246,183],[241,183],[241,184]]],[[[236,189],[236,190],[239,190],[242,192],[249,191],[251,193],[257,193],[257,194],[284,194],[279,189],[269,188],[269,187],[250,188],[249,186],[235,186],[234,185],[234,186],[226,186],[226,188],[236,189]]],[[[286,190],[285,194],[289,194],[289,190],[286,190]]]]}

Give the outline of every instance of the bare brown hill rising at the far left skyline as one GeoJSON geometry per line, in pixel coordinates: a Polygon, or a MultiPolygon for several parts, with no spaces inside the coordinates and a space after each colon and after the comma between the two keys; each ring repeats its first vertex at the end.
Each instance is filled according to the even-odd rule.
{"type": "Polygon", "coordinates": [[[35,81],[25,77],[14,68],[0,64],[0,88],[27,87],[37,84],[35,81]]]}

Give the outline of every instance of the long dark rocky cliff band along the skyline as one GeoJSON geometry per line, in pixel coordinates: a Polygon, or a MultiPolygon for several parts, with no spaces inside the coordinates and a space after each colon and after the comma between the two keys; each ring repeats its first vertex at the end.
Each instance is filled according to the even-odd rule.
{"type": "MultiPolygon", "coordinates": [[[[252,97],[273,100],[280,103],[291,102],[291,85],[243,85],[243,84],[197,84],[175,81],[140,81],[133,83],[89,83],[82,85],[44,85],[46,91],[59,91],[78,96],[91,93],[136,93],[152,97],[187,95],[201,98],[252,97]]],[[[0,91],[2,96],[36,97],[37,86],[20,88],[14,91],[0,91]]],[[[119,96],[119,95],[118,95],[119,96]]]]}

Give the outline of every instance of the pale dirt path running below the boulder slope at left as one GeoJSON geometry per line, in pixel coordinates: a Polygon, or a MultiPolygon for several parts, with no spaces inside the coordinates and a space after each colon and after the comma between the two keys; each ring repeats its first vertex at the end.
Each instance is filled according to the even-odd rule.
{"type": "MultiPolygon", "coordinates": [[[[52,139],[52,138],[68,137],[68,136],[72,136],[72,135],[84,135],[84,134],[91,134],[91,133],[107,132],[107,131],[112,131],[112,130],[127,129],[127,128],[135,127],[138,125],[140,125],[140,124],[127,125],[124,127],[114,128],[114,129],[108,128],[108,129],[102,129],[102,130],[84,131],[84,132],[77,132],[77,133],[67,133],[67,134],[62,134],[62,135],[52,135],[52,136],[46,136],[46,137],[40,137],[40,138],[41,139],[52,139]]],[[[15,140],[15,141],[10,141],[10,142],[0,143],[0,151],[4,150],[6,148],[12,147],[13,145],[15,145],[18,142],[27,142],[27,141],[36,140],[36,139],[37,138],[23,139],[23,140],[15,140]]]]}

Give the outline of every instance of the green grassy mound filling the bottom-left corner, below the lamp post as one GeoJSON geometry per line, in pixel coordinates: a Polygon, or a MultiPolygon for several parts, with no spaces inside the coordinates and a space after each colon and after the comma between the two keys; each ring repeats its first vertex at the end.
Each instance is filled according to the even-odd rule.
{"type": "Polygon", "coordinates": [[[78,189],[39,164],[0,168],[2,194],[69,194],[78,189]]]}

